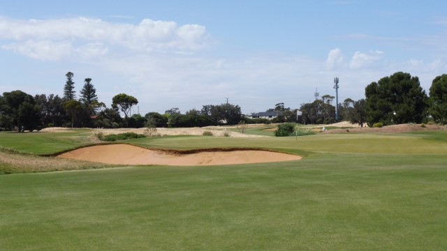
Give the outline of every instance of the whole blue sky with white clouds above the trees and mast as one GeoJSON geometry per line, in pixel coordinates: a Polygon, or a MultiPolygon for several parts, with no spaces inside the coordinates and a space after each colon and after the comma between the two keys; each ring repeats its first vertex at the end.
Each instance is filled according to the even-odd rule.
{"type": "MultiPolygon", "coordinates": [[[[91,78],[133,112],[226,102],[263,112],[320,96],[365,97],[403,71],[428,93],[447,72],[446,1],[3,1],[0,93],[58,94],[91,78]]],[[[78,94],[79,95],[79,94],[78,94]]]]}

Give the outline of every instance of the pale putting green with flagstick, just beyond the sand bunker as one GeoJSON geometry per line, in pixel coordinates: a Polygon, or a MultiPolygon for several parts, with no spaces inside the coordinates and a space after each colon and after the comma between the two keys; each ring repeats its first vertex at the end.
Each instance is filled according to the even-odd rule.
{"type": "MultiPolygon", "coordinates": [[[[446,131],[440,132],[446,135],[446,131]]],[[[440,137],[440,136],[437,136],[440,137]]],[[[154,137],[129,142],[154,148],[260,147],[302,153],[445,154],[447,142],[411,134],[317,134],[305,137],[154,137]]]]}

